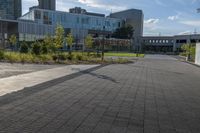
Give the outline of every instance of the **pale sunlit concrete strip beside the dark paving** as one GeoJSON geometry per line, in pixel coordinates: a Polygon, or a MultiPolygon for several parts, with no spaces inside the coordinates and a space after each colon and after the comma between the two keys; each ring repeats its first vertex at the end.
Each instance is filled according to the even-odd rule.
{"type": "Polygon", "coordinates": [[[69,65],[0,79],[0,96],[74,74],[98,65],[69,65]]]}

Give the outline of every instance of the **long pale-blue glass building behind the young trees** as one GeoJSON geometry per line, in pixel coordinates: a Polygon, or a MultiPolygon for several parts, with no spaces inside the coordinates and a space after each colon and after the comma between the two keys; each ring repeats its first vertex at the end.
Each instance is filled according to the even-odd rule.
{"type": "Polygon", "coordinates": [[[104,30],[113,33],[123,23],[123,20],[116,18],[44,9],[33,9],[18,21],[20,41],[34,41],[46,35],[54,36],[56,26],[60,24],[64,27],[65,33],[71,32],[79,43],[83,42],[87,34],[102,33],[104,30]]]}

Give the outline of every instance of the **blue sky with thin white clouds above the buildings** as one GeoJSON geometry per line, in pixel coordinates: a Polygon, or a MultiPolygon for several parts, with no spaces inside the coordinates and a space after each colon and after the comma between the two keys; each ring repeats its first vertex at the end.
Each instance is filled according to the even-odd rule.
{"type": "MultiPolygon", "coordinates": [[[[37,0],[22,0],[23,13],[37,0]]],[[[109,14],[129,8],[144,12],[144,35],[200,33],[200,0],[57,0],[57,10],[79,6],[92,12],[109,14]]]]}

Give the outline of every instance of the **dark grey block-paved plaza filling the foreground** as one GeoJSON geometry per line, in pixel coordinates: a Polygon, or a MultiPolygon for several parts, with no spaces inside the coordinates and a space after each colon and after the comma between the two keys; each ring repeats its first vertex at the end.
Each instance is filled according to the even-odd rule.
{"type": "Polygon", "coordinates": [[[147,55],[0,97],[0,133],[199,133],[200,68],[147,55]]]}

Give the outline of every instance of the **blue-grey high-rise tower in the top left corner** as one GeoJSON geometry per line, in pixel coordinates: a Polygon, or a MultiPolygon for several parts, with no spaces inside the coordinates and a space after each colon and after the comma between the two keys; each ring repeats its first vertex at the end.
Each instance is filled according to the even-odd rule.
{"type": "Polygon", "coordinates": [[[0,0],[0,18],[17,19],[22,15],[22,0],[0,0]]]}

